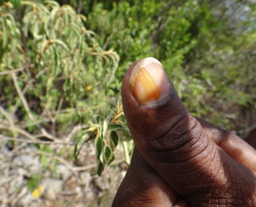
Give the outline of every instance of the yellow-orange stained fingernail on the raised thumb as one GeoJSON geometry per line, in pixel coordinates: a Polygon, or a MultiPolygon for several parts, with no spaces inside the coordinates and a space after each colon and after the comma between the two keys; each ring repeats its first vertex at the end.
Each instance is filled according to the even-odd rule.
{"type": "Polygon", "coordinates": [[[143,105],[153,103],[167,94],[169,87],[164,68],[156,58],[143,58],[134,66],[130,90],[137,102],[143,105]]]}

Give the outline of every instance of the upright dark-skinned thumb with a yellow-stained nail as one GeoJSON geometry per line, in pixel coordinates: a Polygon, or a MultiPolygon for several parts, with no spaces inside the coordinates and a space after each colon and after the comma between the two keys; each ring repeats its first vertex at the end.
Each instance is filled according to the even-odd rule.
{"type": "Polygon", "coordinates": [[[219,195],[234,176],[247,176],[186,111],[155,58],[141,59],[127,70],[122,105],[137,149],[177,193],[205,192],[206,198],[216,189],[219,195]]]}

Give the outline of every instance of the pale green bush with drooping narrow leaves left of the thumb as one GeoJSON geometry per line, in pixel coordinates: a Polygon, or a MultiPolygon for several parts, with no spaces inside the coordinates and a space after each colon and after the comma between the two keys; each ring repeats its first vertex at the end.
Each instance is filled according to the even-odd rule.
{"type": "MultiPolygon", "coordinates": [[[[0,9],[2,133],[18,137],[17,128],[24,128],[51,140],[70,126],[85,124],[96,138],[102,168],[113,160],[118,141],[108,144],[107,126],[122,116],[120,108],[115,110],[117,90],[110,87],[116,81],[119,55],[99,46],[96,34],[83,24],[86,17],[71,6],[22,1],[20,7],[6,2],[0,9]]],[[[88,134],[77,139],[76,156],[85,137],[88,134]]]]}

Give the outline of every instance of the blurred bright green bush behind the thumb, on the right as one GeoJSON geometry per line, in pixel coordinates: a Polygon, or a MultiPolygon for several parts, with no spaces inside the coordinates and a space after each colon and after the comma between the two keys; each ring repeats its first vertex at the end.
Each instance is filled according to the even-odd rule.
{"type": "MultiPolygon", "coordinates": [[[[254,112],[255,3],[234,1],[78,1],[104,48],[120,56],[118,79],[139,58],[164,64],[188,110],[227,130],[254,112]],[[229,12],[228,12],[229,11],[229,12]]],[[[70,1],[72,3],[72,1],[70,1]]],[[[254,118],[255,119],[255,118],[254,118]]]]}

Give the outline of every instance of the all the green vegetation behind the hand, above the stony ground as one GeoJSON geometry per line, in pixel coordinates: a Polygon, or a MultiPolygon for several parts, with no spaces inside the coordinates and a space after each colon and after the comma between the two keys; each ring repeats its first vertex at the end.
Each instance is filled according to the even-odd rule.
{"type": "Polygon", "coordinates": [[[256,126],[254,0],[0,2],[0,133],[9,148],[29,140],[54,153],[45,145],[69,138],[78,162],[94,140],[98,175],[116,148],[129,163],[122,77],[148,56],[193,115],[242,137],[256,126]]]}

